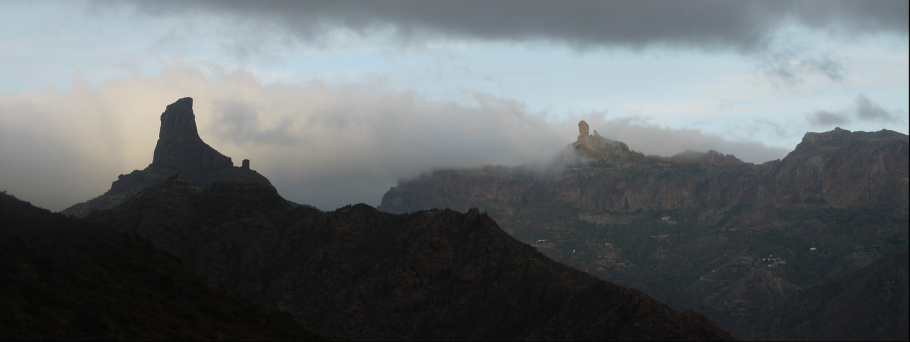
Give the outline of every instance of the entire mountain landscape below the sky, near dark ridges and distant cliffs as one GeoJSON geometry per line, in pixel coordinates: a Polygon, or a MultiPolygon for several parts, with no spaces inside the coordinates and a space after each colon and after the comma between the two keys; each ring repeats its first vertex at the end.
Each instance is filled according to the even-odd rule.
{"type": "Polygon", "coordinates": [[[324,212],[233,166],[180,99],[152,163],[101,196],[0,198],[4,336],[907,339],[906,135],[806,133],[755,165],[579,126],[551,165],[324,212]]]}

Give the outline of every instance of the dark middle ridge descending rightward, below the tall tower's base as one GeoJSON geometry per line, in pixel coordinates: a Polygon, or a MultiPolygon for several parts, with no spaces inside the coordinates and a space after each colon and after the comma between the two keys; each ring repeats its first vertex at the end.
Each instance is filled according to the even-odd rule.
{"type": "Polygon", "coordinates": [[[731,338],[700,314],[554,262],[476,209],[322,212],[261,184],[171,180],[86,219],[339,338],[731,338]]]}

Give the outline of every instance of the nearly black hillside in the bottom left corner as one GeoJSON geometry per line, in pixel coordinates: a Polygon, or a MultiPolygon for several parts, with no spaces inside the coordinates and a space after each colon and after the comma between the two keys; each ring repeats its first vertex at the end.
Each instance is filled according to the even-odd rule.
{"type": "Polygon", "coordinates": [[[145,239],[0,193],[2,340],[326,340],[145,239]]]}

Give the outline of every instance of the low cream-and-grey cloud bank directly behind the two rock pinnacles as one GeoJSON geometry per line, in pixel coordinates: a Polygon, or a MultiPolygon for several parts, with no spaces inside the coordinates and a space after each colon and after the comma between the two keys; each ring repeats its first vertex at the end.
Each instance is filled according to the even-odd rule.
{"type": "Polygon", "coordinates": [[[78,73],[72,83],[72,92],[0,94],[0,190],[51,210],[100,195],[151,162],[160,113],[185,96],[209,145],[249,159],[288,200],[325,210],[378,205],[397,181],[434,168],[547,161],[575,140],[582,119],[649,154],[713,149],[756,162],[785,154],[633,118],[531,112],[470,90],[463,102],[432,100],[381,80],[263,84],[244,70],[212,76],[177,61],[95,88],[78,73]]]}

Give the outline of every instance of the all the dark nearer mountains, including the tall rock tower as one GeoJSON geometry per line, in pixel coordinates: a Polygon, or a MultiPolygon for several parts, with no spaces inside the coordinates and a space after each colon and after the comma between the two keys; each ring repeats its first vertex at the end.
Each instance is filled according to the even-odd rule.
{"type": "Polygon", "coordinates": [[[5,198],[6,337],[733,338],[547,258],[477,209],[285,200],[198,138],[189,98],[161,122],[152,163],[94,200],[55,214],[5,198]]]}

